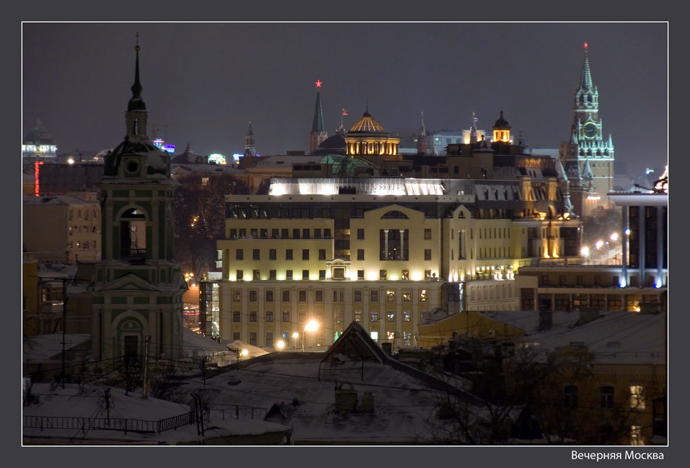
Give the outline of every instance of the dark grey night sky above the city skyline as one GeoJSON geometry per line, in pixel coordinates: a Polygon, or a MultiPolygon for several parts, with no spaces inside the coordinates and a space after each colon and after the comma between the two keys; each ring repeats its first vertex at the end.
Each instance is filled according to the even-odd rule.
{"type": "Polygon", "coordinates": [[[25,23],[23,134],[59,152],[124,137],[139,32],[149,136],[197,154],[308,150],[316,87],[329,136],[365,110],[388,132],[477,127],[500,110],[529,147],[569,138],[583,43],[615,172],[667,163],[665,23],[25,23]]]}

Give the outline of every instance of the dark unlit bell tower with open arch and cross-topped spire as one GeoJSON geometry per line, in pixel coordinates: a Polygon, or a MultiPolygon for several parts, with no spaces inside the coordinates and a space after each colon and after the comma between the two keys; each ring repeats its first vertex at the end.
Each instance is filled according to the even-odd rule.
{"type": "Polygon", "coordinates": [[[95,264],[92,343],[95,359],[181,356],[186,283],[174,260],[170,158],[146,133],[139,45],[125,112],[126,136],[106,157],[101,191],[102,260],[95,264]]]}

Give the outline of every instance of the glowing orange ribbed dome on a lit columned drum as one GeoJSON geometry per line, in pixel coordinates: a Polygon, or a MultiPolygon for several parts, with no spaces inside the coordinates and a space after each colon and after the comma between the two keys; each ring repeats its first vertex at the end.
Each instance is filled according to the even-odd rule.
{"type": "Polygon", "coordinates": [[[400,139],[388,136],[384,128],[373,119],[368,110],[352,126],[345,136],[346,154],[384,156],[386,159],[401,159],[398,154],[400,139]]]}

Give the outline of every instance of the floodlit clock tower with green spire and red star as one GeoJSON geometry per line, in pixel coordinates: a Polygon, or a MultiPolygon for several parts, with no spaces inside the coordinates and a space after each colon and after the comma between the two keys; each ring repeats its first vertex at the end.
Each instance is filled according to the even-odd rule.
{"type": "Polygon", "coordinates": [[[584,217],[595,207],[609,207],[615,159],[611,134],[604,138],[599,89],[592,81],[587,43],[573,111],[571,138],[561,146],[560,159],[571,183],[575,214],[584,217]]]}

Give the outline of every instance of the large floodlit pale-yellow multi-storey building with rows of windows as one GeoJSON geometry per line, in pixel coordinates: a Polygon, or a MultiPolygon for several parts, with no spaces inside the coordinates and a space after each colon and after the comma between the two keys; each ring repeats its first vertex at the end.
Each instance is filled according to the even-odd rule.
{"type": "Polygon", "coordinates": [[[553,201],[521,201],[521,183],[273,179],[266,195],[226,196],[221,337],[327,346],[359,321],[397,349],[437,307],[517,308],[517,268],[578,256],[580,227],[553,201]]]}

